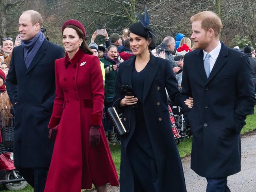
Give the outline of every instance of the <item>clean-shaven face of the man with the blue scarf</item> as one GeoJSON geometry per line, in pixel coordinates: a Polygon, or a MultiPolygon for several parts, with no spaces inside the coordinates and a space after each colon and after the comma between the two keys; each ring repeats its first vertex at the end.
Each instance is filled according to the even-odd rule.
{"type": "Polygon", "coordinates": [[[23,13],[20,15],[19,19],[19,32],[20,38],[23,41],[28,41],[35,37],[37,33],[41,30],[40,24],[36,23],[35,25],[31,22],[31,16],[28,13],[23,13]]]}

